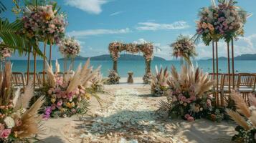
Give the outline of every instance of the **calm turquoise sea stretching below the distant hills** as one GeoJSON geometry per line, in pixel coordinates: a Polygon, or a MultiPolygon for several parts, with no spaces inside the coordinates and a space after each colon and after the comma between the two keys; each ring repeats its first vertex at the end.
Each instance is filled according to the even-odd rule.
{"type": "MultiPolygon", "coordinates": [[[[26,72],[27,71],[27,61],[23,60],[12,60],[13,71],[26,72]]],[[[63,71],[63,61],[60,62],[61,71],[63,71]]],[[[75,67],[80,63],[85,64],[85,61],[75,61],[75,67]]],[[[55,61],[52,61],[54,66],[55,61]]],[[[96,68],[101,65],[101,72],[104,77],[108,76],[108,70],[113,68],[113,61],[91,61],[90,64],[96,68]]],[[[155,66],[162,65],[163,67],[176,66],[176,69],[180,69],[180,61],[152,61],[151,69],[154,72],[155,66]]],[[[202,60],[194,61],[194,66],[198,65],[206,72],[212,72],[212,61],[202,60]]],[[[33,71],[34,61],[30,62],[30,70],[33,71]]],[[[234,68],[236,72],[250,72],[256,73],[256,61],[235,61],[234,68]]],[[[37,61],[37,71],[42,71],[43,61],[37,61]]],[[[145,62],[144,61],[118,61],[118,74],[120,77],[128,77],[127,72],[133,71],[134,77],[143,77],[145,74],[145,62]]],[[[219,61],[219,72],[227,72],[227,61],[219,61]]]]}

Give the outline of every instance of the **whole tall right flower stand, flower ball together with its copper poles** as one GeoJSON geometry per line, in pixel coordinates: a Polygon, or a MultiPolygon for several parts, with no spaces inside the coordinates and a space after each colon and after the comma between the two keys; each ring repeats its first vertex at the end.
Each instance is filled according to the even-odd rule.
{"type": "MultiPolygon", "coordinates": [[[[238,39],[239,36],[243,36],[244,34],[244,26],[246,23],[246,19],[250,14],[247,14],[246,11],[241,9],[239,6],[235,6],[237,4],[234,0],[219,0],[219,4],[216,5],[215,1],[212,0],[212,6],[204,7],[201,11],[199,11],[200,20],[196,21],[197,29],[196,35],[194,36],[196,39],[202,37],[202,41],[204,44],[209,45],[212,41],[213,48],[213,56],[214,49],[216,54],[216,74],[215,74],[215,64],[214,57],[212,60],[213,63],[213,74],[214,79],[217,77],[217,104],[219,104],[219,67],[218,67],[218,41],[220,39],[224,39],[227,42],[227,57],[228,57],[228,74],[230,74],[230,59],[229,59],[229,42],[232,44],[232,78],[233,84],[232,88],[234,89],[234,42],[233,39],[238,39]]],[[[231,89],[231,76],[228,77],[229,80],[229,92],[231,89]]],[[[214,88],[215,89],[215,88],[214,88]]],[[[221,95],[221,104],[223,106],[223,97],[221,95]]]]}

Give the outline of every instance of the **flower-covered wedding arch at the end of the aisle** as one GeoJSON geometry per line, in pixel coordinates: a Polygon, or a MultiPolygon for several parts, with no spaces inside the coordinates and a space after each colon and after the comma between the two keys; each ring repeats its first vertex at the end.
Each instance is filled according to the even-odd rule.
{"type": "MultiPolygon", "coordinates": [[[[117,69],[117,61],[120,56],[121,51],[127,51],[132,54],[136,54],[138,52],[143,53],[143,57],[146,61],[146,74],[143,77],[143,82],[148,84],[151,80],[151,60],[153,59],[153,44],[151,43],[144,43],[144,44],[123,44],[121,42],[113,42],[110,43],[108,46],[108,50],[110,51],[110,55],[114,61],[113,63],[113,70],[118,73],[117,69]]],[[[118,83],[118,82],[117,82],[118,83]]]]}

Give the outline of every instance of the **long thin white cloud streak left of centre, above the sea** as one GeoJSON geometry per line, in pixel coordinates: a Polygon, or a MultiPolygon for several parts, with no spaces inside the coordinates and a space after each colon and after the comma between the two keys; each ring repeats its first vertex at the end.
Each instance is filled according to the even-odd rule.
{"type": "Polygon", "coordinates": [[[90,29],[90,30],[83,30],[83,31],[72,31],[67,33],[69,36],[96,36],[96,35],[103,35],[103,34],[126,34],[131,32],[130,29],[90,29]]]}

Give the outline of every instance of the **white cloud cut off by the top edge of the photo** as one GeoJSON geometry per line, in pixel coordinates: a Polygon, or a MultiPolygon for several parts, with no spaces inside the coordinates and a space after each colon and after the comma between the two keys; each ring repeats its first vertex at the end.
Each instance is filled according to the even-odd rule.
{"type": "Polygon", "coordinates": [[[100,14],[101,6],[106,4],[106,0],[65,0],[65,4],[76,7],[90,14],[100,14]]]}

